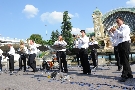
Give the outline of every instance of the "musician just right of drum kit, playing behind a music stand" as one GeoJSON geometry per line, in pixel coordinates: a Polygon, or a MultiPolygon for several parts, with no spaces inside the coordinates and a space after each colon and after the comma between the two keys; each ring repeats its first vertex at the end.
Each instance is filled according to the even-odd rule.
{"type": "MultiPolygon", "coordinates": [[[[58,37],[58,40],[54,42],[54,45],[66,46],[67,43],[63,40],[62,36],[60,35],[58,37]]],[[[57,60],[61,59],[61,63],[59,63],[61,66],[60,67],[61,72],[68,73],[67,61],[66,61],[66,49],[58,50],[56,52],[56,56],[57,56],[57,60]],[[62,63],[63,63],[63,66],[62,66],[62,63]],[[64,71],[63,71],[63,67],[64,67],[64,71]]]]}

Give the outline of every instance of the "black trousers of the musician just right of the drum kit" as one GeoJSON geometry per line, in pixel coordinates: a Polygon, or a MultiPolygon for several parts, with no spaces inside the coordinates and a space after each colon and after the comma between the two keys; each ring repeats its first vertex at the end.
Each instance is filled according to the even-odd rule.
{"type": "Polygon", "coordinates": [[[61,66],[60,67],[61,70],[63,71],[63,67],[64,67],[64,71],[67,71],[68,69],[67,69],[66,53],[64,51],[57,51],[56,56],[57,56],[58,62],[59,60],[61,60],[61,63],[59,63],[61,66]]]}

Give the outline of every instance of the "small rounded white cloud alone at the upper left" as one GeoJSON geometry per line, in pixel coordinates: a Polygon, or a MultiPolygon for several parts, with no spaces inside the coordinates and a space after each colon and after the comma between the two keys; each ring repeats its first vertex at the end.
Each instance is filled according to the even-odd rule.
{"type": "Polygon", "coordinates": [[[38,12],[39,12],[38,8],[34,7],[33,5],[26,5],[22,11],[22,13],[24,13],[27,18],[35,17],[38,12]]]}

